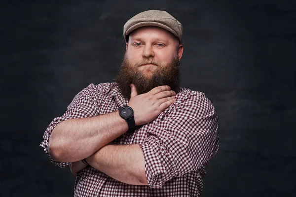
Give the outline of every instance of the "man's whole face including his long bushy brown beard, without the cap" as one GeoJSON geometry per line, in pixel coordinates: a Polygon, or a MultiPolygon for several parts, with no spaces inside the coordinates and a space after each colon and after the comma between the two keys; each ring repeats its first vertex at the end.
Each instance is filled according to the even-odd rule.
{"type": "Polygon", "coordinates": [[[135,84],[138,94],[160,85],[169,85],[178,93],[182,54],[183,45],[178,38],[164,29],[149,26],[132,32],[116,77],[122,95],[130,97],[131,83],[135,84]]]}

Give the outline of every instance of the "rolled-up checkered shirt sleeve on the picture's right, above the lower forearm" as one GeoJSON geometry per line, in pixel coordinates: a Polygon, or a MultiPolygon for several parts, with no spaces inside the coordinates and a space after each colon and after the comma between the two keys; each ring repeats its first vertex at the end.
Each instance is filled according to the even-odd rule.
{"type": "MultiPolygon", "coordinates": [[[[178,102],[178,101],[177,101],[178,102]]],[[[163,184],[206,164],[219,149],[218,116],[204,94],[180,101],[141,143],[148,185],[163,184]]]]}

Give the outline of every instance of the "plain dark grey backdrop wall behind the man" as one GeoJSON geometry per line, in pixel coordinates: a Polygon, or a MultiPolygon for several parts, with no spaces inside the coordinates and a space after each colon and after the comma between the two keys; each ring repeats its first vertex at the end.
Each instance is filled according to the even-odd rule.
{"type": "Polygon", "coordinates": [[[203,197],[295,197],[295,0],[1,1],[0,196],[73,196],[43,132],[80,90],[114,80],[123,25],[148,9],[183,24],[182,84],[219,115],[203,197]]]}

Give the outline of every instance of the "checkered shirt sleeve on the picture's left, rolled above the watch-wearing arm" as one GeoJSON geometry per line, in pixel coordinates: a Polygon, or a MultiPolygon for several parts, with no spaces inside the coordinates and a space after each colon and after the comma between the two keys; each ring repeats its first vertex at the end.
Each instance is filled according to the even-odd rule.
{"type": "Polygon", "coordinates": [[[98,94],[96,86],[93,84],[90,84],[88,87],[84,88],[74,97],[73,101],[67,107],[67,111],[64,113],[63,116],[56,117],[49,124],[46,131],[44,132],[44,135],[43,135],[44,140],[41,142],[40,146],[43,148],[44,152],[49,157],[51,162],[53,162],[54,164],[60,167],[65,167],[70,164],[66,162],[55,161],[48,154],[48,142],[49,142],[49,137],[51,132],[59,123],[65,120],[96,116],[98,111],[97,101],[100,100],[98,98],[99,96],[100,95],[98,94]]]}

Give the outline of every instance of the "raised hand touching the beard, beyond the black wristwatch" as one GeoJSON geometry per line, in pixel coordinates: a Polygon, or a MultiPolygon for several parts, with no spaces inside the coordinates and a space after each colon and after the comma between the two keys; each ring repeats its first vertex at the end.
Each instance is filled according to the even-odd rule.
{"type": "Polygon", "coordinates": [[[131,84],[131,99],[128,106],[134,110],[136,125],[151,122],[176,101],[176,93],[170,89],[169,86],[158,86],[148,93],[138,95],[135,85],[131,84]]]}

